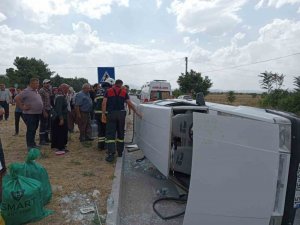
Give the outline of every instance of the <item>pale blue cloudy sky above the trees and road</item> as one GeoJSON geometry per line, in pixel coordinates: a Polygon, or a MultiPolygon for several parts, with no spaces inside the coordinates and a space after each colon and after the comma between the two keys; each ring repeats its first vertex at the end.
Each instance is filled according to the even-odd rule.
{"type": "Polygon", "coordinates": [[[300,0],[1,0],[0,74],[41,59],[97,82],[115,67],[131,88],[195,70],[214,90],[262,91],[258,75],[300,76],[300,0]]]}

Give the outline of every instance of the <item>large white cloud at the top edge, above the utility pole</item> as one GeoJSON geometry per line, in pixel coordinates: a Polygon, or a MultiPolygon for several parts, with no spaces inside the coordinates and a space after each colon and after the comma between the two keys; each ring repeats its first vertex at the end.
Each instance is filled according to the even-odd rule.
{"type": "Polygon", "coordinates": [[[222,35],[242,19],[237,12],[247,0],[173,0],[168,11],[177,17],[180,32],[222,35]]]}

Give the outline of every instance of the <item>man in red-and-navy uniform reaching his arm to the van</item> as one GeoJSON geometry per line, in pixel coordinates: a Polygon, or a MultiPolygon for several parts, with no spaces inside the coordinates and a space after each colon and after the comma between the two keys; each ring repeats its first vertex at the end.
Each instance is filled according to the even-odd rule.
{"type": "Polygon", "coordinates": [[[130,101],[126,89],[122,88],[123,81],[116,80],[115,85],[105,93],[102,102],[102,122],[106,123],[105,143],[107,146],[107,162],[113,162],[115,158],[115,146],[118,156],[122,157],[124,150],[125,104],[128,104],[140,118],[135,106],[130,101]],[[107,112],[107,114],[105,113],[107,112]]]}

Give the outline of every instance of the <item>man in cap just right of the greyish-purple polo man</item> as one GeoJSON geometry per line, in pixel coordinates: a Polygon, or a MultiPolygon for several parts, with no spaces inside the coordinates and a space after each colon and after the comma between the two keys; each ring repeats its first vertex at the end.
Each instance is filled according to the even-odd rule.
{"type": "Polygon", "coordinates": [[[43,80],[43,87],[39,90],[39,94],[43,101],[43,112],[40,117],[40,145],[48,145],[50,133],[50,110],[51,110],[51,81],[43,80]]]}

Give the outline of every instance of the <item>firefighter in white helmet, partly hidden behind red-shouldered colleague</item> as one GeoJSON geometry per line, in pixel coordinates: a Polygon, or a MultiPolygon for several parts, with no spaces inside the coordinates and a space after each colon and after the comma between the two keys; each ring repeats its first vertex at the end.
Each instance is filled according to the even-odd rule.
{"type": "Polygon", "coordinates": [[[98,125],[98,149],[104,150],[105,149],[105,129],[106,124],[102,123],[101,121],[101,114],[102,114],[102,102],[104,98],[104,94],[108,88],[111,88],[114,85],[115,81],[112,78],[108,78],[105,82],[101,84],[101,90],[99,93],[96,94],[94,99],[94,108],[95,108],[95,119],[98,125]]]}

